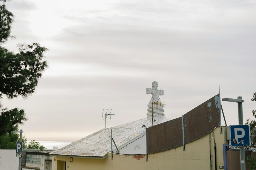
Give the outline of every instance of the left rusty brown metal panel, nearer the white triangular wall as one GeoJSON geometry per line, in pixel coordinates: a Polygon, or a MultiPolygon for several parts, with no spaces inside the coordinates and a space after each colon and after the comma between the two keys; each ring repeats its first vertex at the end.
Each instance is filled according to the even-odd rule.
{"type": "Polygon", "coordinates": [[[182,146],[182,118],[147,128],[148,154],[177,148],[179,146],[182,146]]]}

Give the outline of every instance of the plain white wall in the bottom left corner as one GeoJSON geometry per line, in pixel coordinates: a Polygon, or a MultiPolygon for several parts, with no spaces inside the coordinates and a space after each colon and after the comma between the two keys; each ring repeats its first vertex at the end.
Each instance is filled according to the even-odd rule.
{"type": "Polygon", "coordinates": [[[19,158],[16,158],[16,150],[0,150],[0,170],[16,170],[19,168],[19,158]]]}

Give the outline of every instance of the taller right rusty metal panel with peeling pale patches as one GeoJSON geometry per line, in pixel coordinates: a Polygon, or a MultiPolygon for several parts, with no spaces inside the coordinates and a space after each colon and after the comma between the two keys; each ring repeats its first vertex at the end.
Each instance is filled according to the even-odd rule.
{"type": "Polygon", "coordinates": [[[184,142],[192,142],[220,126],[220,95],[216,95],[184,115],[184,142]]]}

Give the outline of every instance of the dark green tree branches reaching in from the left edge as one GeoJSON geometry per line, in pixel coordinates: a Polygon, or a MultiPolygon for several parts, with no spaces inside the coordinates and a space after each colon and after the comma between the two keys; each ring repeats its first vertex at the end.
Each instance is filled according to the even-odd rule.
{"type": "MultiPolygon", "coordinates": [[[[6,0],[0,0],[0,99],[3,95],[9,99],[22,96],[24,99],[35,92],[35,87],[47,68],[44,61],[45,47],[39,43],[18,44],[18,53],[4,48],[4,42],[10,35],[13,14],[6,9],[6,0]]],[[[23,109],[8,110],[0,104],[0,136],[14,131],[26,121],[23,109]]]]}

